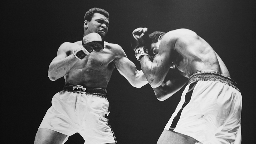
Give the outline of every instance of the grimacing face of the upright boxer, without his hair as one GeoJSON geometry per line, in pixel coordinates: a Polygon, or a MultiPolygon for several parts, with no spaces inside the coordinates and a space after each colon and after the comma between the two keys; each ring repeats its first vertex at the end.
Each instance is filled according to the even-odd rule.
{"type": "Polygon", "coordinates": [[[95,13],[92,17],[91,21],[85,21],[85,26],[87,23],[88,31],[89,32],[96,32],[102,38],[104,38],[108,32],[108,18],[100,13],[95,13]]]}

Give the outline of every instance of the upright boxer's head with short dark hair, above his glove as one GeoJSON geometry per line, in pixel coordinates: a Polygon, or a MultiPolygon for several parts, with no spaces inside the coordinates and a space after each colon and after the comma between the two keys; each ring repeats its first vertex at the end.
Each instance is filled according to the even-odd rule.
{"type": "Polygon", "coordinates": [[[88,10],[84,16],[84,36],[96,32],[104,38],[108,32],[109,13],[100,8],[88,10]]]}

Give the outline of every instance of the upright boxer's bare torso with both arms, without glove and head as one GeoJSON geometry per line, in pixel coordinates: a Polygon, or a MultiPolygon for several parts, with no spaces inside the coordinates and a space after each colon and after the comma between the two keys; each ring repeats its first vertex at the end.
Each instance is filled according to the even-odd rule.
{"type": "Polygon", "coordinates": [[[140,88],[148,83],[142,71],[138,71],[127,58],[122,47],[107,42],[104,45],[102,51],[92,51],[78,60],[72,51],[83,47],[81,41],[63,43],[49,66],[49,78],[55,81],[64,76],[66,84],[106,89],[112,72],[117,67],[132,86],[140,88]]]}

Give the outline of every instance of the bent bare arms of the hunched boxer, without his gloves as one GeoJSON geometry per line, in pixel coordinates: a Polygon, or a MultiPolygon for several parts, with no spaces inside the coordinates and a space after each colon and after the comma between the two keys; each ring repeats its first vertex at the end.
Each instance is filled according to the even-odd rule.
{"type": "Polygon", "coordinates": [[[178,69],[171,69],[174,68],[176,41],[177,36],[172,31],[168,32],[163,36],[153,62],[146,55],[140,58],[142,71],[161,101],[179,91],[187,82],[178,69]]]}

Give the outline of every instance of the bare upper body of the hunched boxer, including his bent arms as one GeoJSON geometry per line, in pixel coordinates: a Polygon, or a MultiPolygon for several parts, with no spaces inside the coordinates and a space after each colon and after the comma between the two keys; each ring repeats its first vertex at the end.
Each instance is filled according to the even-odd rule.
{"type": "Polygon", "coordinates": [[[230,77],[217,53],[191,30],[169,31],[151,44],[151,50],[156,54],[153,62],[147,56],[140,61],[158,100],[165,100],[180,90],[197,70],[212,70],[230,77]]]}

